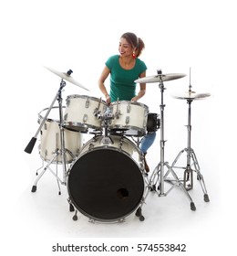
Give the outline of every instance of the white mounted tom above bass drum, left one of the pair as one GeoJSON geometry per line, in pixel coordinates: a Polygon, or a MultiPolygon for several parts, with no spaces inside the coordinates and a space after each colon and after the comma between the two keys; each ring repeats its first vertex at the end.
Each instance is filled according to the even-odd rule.
{"type": "Polygon", "coordinates": [[[101,129],[101,114],[105,112],[106,102],[84,95],[67,96],[64,127],[71,131],[87,132],[88,128],[101,129]]]}

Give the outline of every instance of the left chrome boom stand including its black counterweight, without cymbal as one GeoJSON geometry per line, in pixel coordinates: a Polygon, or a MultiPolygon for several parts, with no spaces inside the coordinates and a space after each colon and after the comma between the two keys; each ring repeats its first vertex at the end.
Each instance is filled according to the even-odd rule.
{"type": "MultiPolygon", "coordinates": [[[[67,75],[69,76],[72,73],[72,70],[69,69],[67,71],[67,75]]],[[[36,135],[30,140],[29,144],[27,144],[25,152],[28,154],[31,154],[35,144],[36,144],[36,137],[38,135],[38,133],[41,131],[43,125],[46,123],[46,118],[49,114],[49,112],[51,111],[51,109],[53,108],[54,104],[56,101],[58,101],[58,108],[59,108],[59,130],[60,130],[60,143],[61,143],[61,149],[57,150],[55,156],[52,157],[52,159],[49,161],[49,163],[46,165],[46,167],[44,168],[44,170],[41,172],[41,174],[37,177],[36,182],[34,184],[34,186],[32,187],[31,192],[36,192],[36,184],[38,182],[38,180],[45,174],[46,169],[49,169],[51,172],[51,168],[49,168],[49,165],[51,165],[54,161],[54,159],[57,157],[57,155],[62,155],[62,165],[63,165],[63,181],[60,181],[62,185],[66,185],[67,181],[66,181],[66,177],[67,177],[67,166],[66,166],[66,148],[65,148],[65,136],[64,136],[64,127],[63,127],[63,106],[62,106],[62,90],[63,88],[66,86],[66,82],[62,79],[60,82],[60,87],[59,90],[57,91],[56,97],[54,98],[54,100],[52,101],[50,107],[48,108],[46,115],[42,121],[42,123],[40,123],[38,130],[36,131],[36,135]]],[[[58,178],[58,176],[52,172],[54,176],[57,177],[57,182],[60,180],[58,178]]],[[[60,189],[59,189],[59,194],[60,194],[60,189]]]]}

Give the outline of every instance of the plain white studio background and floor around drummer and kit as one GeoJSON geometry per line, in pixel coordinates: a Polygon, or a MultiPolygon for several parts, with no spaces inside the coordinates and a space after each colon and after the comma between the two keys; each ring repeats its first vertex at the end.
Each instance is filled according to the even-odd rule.
{"type": "MultiPolygon", "coordinates": [[[[232,254],[237,43],[233,4],[231,0],[23,0],[1,4],[0,187],[5,255],[50,255],[57,242],[180,242],[189,246],[186,255],[232,254]],[[211,202],[203,201],[201,187],[195,183],[191,197],[196,212],[190,210],[180,190],[174,189],[167,197],[148,197],[144,222],[133,214],[123,224],[93,225],[81,215],[75,222],[68,212],[67,188],[58,197],[54,177],[47,174],[36,194],[30,192],[41,162],[37,148],[31,155],[24,149],[38,128],[37,113],[50,105],[60,82],[43,66],[73,69],[73,78],[89,90],[67,82],[64,100],[70,94],[99,98],[97,81],[104,62],[118,53],[119,37],[128,31],[145,42],[140,59],[148,66],[147,75],[155,75],[157,69],[187,74],[165,84],[166,161],[172,162],[187,144],[187,103],[170,95],[188,90],[190,67],[193,91],[211,93],[210,98],[192,103],[191,141],[211,202]]],[[[147,85],[141,102],[149,105],[150,112],[160,112],[157,84],[147,85]]],[[[160,161],[159,140],[160,133],[148,155],[151,169],[160,161]]]]}

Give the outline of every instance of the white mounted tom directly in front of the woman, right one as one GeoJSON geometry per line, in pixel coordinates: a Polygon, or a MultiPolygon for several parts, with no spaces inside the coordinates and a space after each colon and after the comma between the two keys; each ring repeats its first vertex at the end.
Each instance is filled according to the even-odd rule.
{"type": "Polygon", "coordinates": [[[110,104],[114,118],[109,124],[110,130],[135,130],[146,133],[149,107],[132,101],[114,101],[110,104]]]}

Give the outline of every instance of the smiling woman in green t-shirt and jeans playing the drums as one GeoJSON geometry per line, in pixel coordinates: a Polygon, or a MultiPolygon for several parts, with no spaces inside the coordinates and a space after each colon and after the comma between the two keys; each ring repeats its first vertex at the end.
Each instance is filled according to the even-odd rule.
{"type": "MultiPolygon", "coordinates": [[[[120,37],[118,52],[108,58],[106,66],[102,70],[98,80],[98,87],[105,95],[107,104],[113,101],[139,101],[146,93],[146,84],[140,83],[139,93],[136,95],[136,83],[134,80],[146,76],[146,64],[139,59],[139,56],[145,48],[144,42],[134,33],[125,33],[120,37]],[[105,86],[110,74],[110,91],[105,86]]],[[[140,150],[144,155],[145,169],[149,172],[145,155],[151,144],[153,144],[156,133],[148,133],[143,137],[140,150]]]]}

